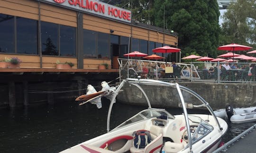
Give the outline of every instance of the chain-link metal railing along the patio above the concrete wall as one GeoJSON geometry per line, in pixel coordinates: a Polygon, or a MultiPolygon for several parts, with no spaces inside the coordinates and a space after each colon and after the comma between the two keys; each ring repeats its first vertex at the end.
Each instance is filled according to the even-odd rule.
{"type": "Polygon", "coordinates": [[[198,81],[214,83],[256,83],[255,63],[191,62],[171,63],[154,60],[118,59],[120,81],[142,78],[166,81],[198,81]],[[226,64],[227,63],[227,64],[226,64]],[[227,70],[223,65],[229,65],[227,70]],[[144,72],[147,68],[148,72],[144,72]],[[145,76],[145,74],[147,74],[145,76]]]}

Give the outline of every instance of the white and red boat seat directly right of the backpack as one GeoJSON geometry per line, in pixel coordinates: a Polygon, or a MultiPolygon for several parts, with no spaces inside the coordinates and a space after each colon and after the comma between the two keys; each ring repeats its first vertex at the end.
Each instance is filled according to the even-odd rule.
{"type": "Polygon", "coordinates": [[[151,126],[150,127],[151,142],[145,148],[130,148],[131,153],[157,153],[160,152],[163,145],[163,127],[151,126]]]}

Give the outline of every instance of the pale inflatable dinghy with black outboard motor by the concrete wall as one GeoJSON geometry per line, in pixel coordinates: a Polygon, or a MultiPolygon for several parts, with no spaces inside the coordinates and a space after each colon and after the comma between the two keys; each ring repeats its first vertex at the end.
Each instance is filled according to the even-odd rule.
{"type": "Polygon", "coordinates": [[[226,109],[214,111],[219,118],[230,119],[232,123],[247,123],[256,121],[256,107],[233,108],[227,105],[226,109]]]}

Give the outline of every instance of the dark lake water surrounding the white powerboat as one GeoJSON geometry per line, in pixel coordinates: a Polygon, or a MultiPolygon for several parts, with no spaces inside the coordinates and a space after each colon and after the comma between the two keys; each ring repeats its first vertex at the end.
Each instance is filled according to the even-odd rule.
{"type": "MultiPolygon", "coordinates": [[[[103,99],[101,109],[90,103],[79,106],[75,101],[30,106],[26,109],[1,109],[0,153],[58,153],[106,133],[109,103],[109,100],[103,99]]],[[[115,113],[112,113],[113,124],[110,124],[110,128],[145,108],[116,102],[112,110],[115,113]]],[[[182,112],[181,109],[167,110],[173,115],[182,112]]],[[[205,113],[204,110],[188,112],[205,113]]],[[[232,124],[228,120],[227,122],[229,130],[223,137],[224,142],[255,124],[232,124]]]]}

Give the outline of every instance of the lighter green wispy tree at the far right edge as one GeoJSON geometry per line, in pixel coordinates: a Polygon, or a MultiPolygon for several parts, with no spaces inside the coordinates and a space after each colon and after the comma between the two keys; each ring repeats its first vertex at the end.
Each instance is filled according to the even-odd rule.
{"type": "Polygon", "coordinates": [[[220,44],[240,43],[256,47],[255,0],[237,0],[223,15],[220,44]]]}

